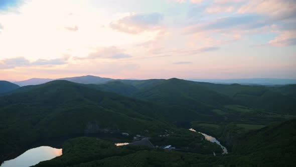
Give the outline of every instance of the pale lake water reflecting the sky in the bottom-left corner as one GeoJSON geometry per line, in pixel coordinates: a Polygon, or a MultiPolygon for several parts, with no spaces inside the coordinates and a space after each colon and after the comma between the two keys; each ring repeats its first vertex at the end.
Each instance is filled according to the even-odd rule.
{"type": "Polygon", "coordinates": [[[62,149],[41,146],[29,149],[15,159],[4,161],[1,167],[28,167],[35,165],[40,161],[50,160],[60,155],[62,155],[62,149]]]}

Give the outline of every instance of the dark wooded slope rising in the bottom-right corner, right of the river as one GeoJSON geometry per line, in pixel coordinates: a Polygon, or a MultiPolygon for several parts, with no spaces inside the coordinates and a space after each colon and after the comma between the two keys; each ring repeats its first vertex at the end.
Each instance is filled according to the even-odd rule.
{"type": "Polygon", "coordinates": [[[235,165],[293,166],[296,162],[296,120],[289,120],[242,135],[233,152],[235,165]]]}

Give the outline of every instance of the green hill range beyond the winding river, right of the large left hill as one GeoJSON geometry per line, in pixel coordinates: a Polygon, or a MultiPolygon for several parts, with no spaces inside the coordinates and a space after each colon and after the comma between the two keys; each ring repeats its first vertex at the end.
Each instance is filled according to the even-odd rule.
{"type": "Polygon", "coordinates": [[[264,86],[220,85],[177,78],[116,80],[85,86],[158,104],[164,108],[159,114],[166,121],[182,127],[189,127],[191,121],[267,125],[292,117],[284,114],[293,108],[293,99],[264,86]]]}

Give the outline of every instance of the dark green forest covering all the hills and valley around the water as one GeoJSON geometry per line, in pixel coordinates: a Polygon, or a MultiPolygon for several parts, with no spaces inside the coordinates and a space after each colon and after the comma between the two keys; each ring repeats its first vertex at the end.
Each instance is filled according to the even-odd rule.
{"type": "Polygon", "coordinates": [[[177,78],[99,84],[54,80],[4,87],[8,84],[0,82],[5,90],[0,94],[1,161],[46,144],[63,148],[63,155],[36,166],[294,162],[295,85],[222,85],[177,78]],[[216,137],[229,153],[222,154],[218,144],[189,128],[216,137]],[[137,135],[155,146],[176,149],[114,145],[133,142],[137,135]]]}

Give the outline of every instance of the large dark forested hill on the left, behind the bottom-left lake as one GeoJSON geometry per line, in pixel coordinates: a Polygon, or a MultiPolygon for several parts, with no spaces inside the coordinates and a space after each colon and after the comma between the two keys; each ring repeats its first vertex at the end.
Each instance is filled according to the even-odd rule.
{"type": "Polygon", "coordinates": [[[34,87],[0,98],[0,157],[38,140],[60,136],[121,132],[153,135],[170,129],[157,120],[159,108],[150,103],[65,80],[34,87]]]}

